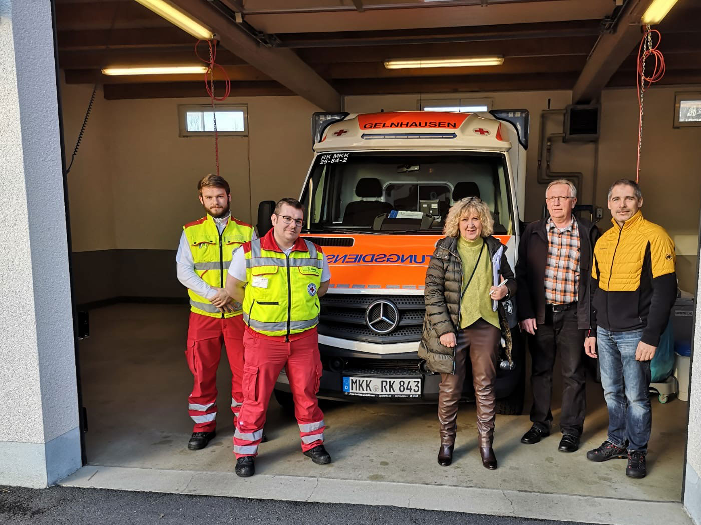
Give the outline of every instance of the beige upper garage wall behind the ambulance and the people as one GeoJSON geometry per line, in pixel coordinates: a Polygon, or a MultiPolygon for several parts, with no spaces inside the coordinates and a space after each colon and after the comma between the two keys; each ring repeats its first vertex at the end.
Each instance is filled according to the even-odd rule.
{"type": "MultiPolygon", "coordinates": [[[[695,88],[698,90],[698,88],[695,88]]],[[[693,90],[693,89],[688,89],[693,90]]],[[[90,86],[63,85],[67,149],[72,150],[90,97],[90,86]]],[[[697,144],[701,127],[672,126],[674,88],[653,87],[646,96],[641,187],[646,216],[665,226],[679,253],[681,287],[695,289],[701,188],[697,183],[697,144]],[[674,184],[669,183],[674,176],[674,184]],[[683,197],[682,197],[683,195],[683,197]]],[[[424,99],[476,98],[475,93],[432,94],[424,99]]],[[[346,97],[346,111],[416,109],[420,94],[346,97]]],[[[536,183],[540,113],[564,109],[569,91],[482,93],[494,108],[531,113],[526,169],[526,221],[540,217],[544,186],[536,183]]],[[[261,200],[299,196],[311,151],[311,114],[319,111],[301,97],[229,99],[247,104],[250,136],[219,139],[221,173],[232,187],[233,213],[255,223],[261,200]]],[[[198,178],[215,171],[214,139],[181,139],[178,104],[207,99],[105,101],[98,92],[81,151],[69,174],[74,251],[175,249],[182,224],[202,216],[194,189],[198,178]]],[[[551,169],[582,172],[580,204],[604,208],[606,190],[622,176],[634,176],[637,137],[634,90],[607,90],[602,97],[598,179],[594,185],[594,146],[555,141],[551,169]],[[595,187],[594,187],[595,186],[595,187]],[[594,198],[595,195],[595,198],[594,198]]],[[[547,116],[547,134],[562,132],[562,117],[547,116]]]]}

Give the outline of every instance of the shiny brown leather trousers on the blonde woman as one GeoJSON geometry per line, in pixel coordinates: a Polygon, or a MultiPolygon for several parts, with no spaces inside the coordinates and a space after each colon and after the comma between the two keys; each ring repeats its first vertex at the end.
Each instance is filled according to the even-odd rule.
{"type": "Polygon", "coordinates": [[[501,332],[484,319],[475,321],[468,328],[458,330],[455,346],[455,373],[441,374],[438,385],[438,423],[441,444],[455,443],[458,402],[463,392],[465,361],[468,353],[472,363],[472,385],[477,402],[477,433],[479,447],[491,447],[496,419],[496,360],[501,332]]]}

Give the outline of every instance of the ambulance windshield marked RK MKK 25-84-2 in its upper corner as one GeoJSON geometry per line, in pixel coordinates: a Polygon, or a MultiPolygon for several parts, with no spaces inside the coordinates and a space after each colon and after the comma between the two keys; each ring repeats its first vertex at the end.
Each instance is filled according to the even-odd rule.
{"type": "Polygon", "coordinates": [[[501,153],[324,153],[302,202],[312,231],[440,235],[448,210],[465,197],[486,202],[496,235],[511,235],[501,153]]]}

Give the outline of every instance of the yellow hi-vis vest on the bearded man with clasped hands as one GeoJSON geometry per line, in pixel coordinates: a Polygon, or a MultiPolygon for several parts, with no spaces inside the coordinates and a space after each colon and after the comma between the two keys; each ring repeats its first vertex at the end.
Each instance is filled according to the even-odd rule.
{"type": "MultiPolygon", "coordinates": [[[[253,238],[253,227],[250,224],[237,221],[231,217],[222,235],[219,235],[215,220],[207,215],[199,221],[186,224],[182,227],[190,246],[192,258],[195,261],[195,273],[200,279],[210,286],[224,288],[226,272],[231,265],[231,254],[242,244],[253,238]]],[[[196,314],[210,317],[229,318],[240,316],[243,310],[240,304],[236,304],[236,311],[228,311],[222,314],[214,304],[205,297],[188,290],[190,296],[190,309],[196,314]]]]}

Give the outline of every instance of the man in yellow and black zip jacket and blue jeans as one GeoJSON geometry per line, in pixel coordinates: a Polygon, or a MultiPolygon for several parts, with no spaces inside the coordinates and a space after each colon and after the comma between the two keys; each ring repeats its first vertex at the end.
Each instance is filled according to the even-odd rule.
{"type": "MultiPolygon", "coordinates": [[[[608,439],[587,452],[591,461],[628,458],[626,475],[646,476],[652,428],[650,361],[676,300],[674,242],[646,221],[637,183],[616,181],[608,190],[613,228],[594,248],[592,288],[601,386],[608,407],[608,439]]],[[[594,339],[587,355],[597,357],[594,339]]]]}

